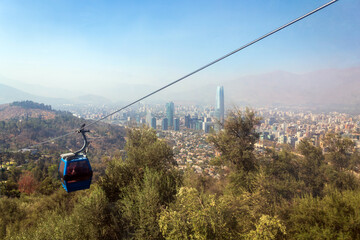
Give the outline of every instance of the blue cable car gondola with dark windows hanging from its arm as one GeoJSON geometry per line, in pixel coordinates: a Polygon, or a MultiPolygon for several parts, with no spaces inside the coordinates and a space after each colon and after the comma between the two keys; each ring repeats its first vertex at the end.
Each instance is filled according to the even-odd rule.
{"type": "Polygon", "coordinates": [[[75,153],[61,154],[59,175],[61,184],[68,193],[88,189],[91,185],[93,171],[84,152],[88,145],[85,133],[89,130],[84,130],[84,126],[85,124],[78,131],[84,138],[83,147],[75,153]]]}

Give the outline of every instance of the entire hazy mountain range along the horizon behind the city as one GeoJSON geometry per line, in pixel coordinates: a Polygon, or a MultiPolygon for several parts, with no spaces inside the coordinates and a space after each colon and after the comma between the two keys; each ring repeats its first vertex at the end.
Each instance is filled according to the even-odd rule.
{"type": "MultiPolygon", "coordinates": [[[[234,78],[222,81],[219,85],[224,86],[225,102],[228,106],[239,104],[247,106],[279,105],[319,107],[329,110],[360,110],[358,107],[360,105],[360,66],[304,74],[275,71],[234,78]]],[[[186,91],[174,86],[155,95],[150,101],[214,104],[216,86],[207,84],[186,91]]],[[[132,101],[155,89],[157,87],[151,85],[126,84],[121,85],[121,89],[114,87],[113,92],[118,92],[123,101],[132,101]]],[[[107,98],[96,95],[76,97],[72,97],[72,94],[69,95],[70,97],[67,98],[40,97],[0,84],[0,103],[20,100],[33,100],[53,106],[112,103],[107,98]]],[[[110,97],[111,94],[106,96],[110,97]]]]}

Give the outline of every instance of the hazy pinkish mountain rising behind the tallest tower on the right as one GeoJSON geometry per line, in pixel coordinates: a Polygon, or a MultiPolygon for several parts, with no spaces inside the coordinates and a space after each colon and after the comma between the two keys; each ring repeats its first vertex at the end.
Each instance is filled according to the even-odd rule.
{"type": "MultiPolygon", "coordinates": [[[[328,69],[305,74],[275,71],[233,80],[219,80],[225,104],[246,106],[293,106],[360,113],[360,67],[328,69]]],[[[215,103],[215,84],[190,91],[172,92],[177,102],[215,103]]]]}

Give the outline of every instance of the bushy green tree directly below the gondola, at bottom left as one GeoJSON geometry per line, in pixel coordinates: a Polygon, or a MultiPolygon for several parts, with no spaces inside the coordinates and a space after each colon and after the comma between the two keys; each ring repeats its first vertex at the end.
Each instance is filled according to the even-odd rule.
{"type": "MultiPolygon", "coordinates": [[[[50,209],[40,213],[41,216],[37,215],[29,227],[21,229],[23,231],[12,233],[13,236],[8,234],[10,236],[7,239],[118,239],[114,235],[114,226],[109,224],[112,215],[104,191],[95,186],[91,191],[75,195],[68,195],[64,191],[61,193],[66,194],[65,198],[59,194],[55,194],[54,199],[46,197],[50,201],[55,201],[50,203],[51,205],[45,201],[40,202],[39,209],[43,210],[44,205],[50,209]],[[75,199],[71,199],[72,197],[75,199]],[[61,205],[65,205],[63,207],[66,210],[71,208],[71,211],[67,214],[63,209],[54,209],[61,205]]],[[[28,208],[29,206],[27,212],[28,208]]]]}

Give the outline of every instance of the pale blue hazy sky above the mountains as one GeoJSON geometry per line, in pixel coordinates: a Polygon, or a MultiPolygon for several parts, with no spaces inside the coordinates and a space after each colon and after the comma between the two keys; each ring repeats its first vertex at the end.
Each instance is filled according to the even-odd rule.
{"type": "MultiPolygon", "coordinates": [[[[1,0],[0,82],[89,93],[160,86],[326,2],[1,0]]],[[[359,66],[359,13],[359,0],[339,0],[179,87],[359,66]]]]}

